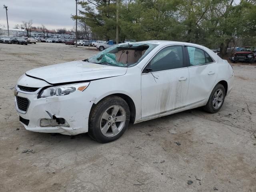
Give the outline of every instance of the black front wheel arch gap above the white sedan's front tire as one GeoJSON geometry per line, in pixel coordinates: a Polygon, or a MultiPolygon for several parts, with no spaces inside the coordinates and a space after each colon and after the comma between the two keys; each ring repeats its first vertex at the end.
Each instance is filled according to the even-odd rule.
{"type": "Polygon", "coordinates": [[[130,122],[134,123],[135,122],[135,118],[136,118],[136,107],[134,104],[134,101],[132,100],[132,98],[130,98],[130,96],[123,94],[123,93],[114,93],[114,94],[110,94],[108,96],[105,96],[103,98],[101,98],[100,100],[98,100],[97,102],[94,102],[92,104],[91,110],[90,110],[90,115],[89,115],[89,120],[91,117],[91,113],[94,110],[95,106],[97,105],[98,102],[100,102],[101,100],[110,97],[110,96],[118,96],[120,98],[122,98],[123,100],[126,101],[126,103],[128,104],[129,108],[130,108],[130,122]]]}

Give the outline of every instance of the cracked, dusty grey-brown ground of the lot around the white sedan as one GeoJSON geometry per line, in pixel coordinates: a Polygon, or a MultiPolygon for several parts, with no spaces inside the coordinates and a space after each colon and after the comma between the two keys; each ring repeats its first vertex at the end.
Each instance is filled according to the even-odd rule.
{"type": "Polygon", "coordinates": [[[194,109],[130,125],[108,144],[87,134],[26,131],[14,109],[18,78],[95,53],[54,43],[0,44],[1,192],[256,192],[255,65],[234,64],[234,88],[216,114],[194,109]]]}

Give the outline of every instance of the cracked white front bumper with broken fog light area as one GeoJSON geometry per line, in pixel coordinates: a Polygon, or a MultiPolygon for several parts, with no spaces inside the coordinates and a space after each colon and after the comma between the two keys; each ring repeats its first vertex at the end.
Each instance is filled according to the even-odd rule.
{"type": "Polygon", "coordinates": [[[66,96],[37,98],[37,94],[19,92],[18,97],[27,98],[29,105],[26,111],[19,110],[15,97],[15,107],[20,122],[26,130],[44,133],[60,133],[76,135],[88,132],[88,118],[92,102],[85,99],[84,92],[76,91],[66,96]],[[50,124],[45,126],[42,122],[52,120],[53,117],[63,118],[65,124],[50,124]],[[28,121],[26,121],[28,120],[28,121]],[[68,125],[68,126],[67,126],[68,125]]]}

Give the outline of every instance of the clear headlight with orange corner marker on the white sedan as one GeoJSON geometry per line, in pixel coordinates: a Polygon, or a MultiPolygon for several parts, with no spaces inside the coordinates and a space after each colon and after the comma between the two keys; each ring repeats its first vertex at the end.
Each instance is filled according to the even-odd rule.
{"type": "Polygon", "coordinates": [[[90,82],[49,87],[44,89],[38,98],[68,95],[76,90],[84,91],[89,84],[90,82]]]}

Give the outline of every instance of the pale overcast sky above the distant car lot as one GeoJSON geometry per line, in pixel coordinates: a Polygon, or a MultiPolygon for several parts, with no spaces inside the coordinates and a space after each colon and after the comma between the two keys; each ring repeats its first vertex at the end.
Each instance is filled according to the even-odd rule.
{"type": "Polygon", "coordinates": [[[71,29],[75,24],[70,18],[71,14],[76,14],[75,0],[0,0],[0,24],[7,28],[4,4],[8,7],[10,28],[29,20],[33,26],[44,24],[49,30],[71,29]]]}

